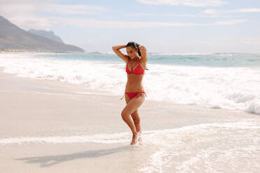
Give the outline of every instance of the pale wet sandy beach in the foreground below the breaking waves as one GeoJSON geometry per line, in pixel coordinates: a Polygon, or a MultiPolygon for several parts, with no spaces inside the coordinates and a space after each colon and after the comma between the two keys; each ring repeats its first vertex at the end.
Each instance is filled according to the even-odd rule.
{"type": "Polygon", "coordinates": [[[139,110],[143,145],[129,146],[131,133],[120,116],[125,102],[118,96],[0,73],[0,103],[0,170],[5,173],[258,172],[260,168],[260,146],[254,144],[245,151],[249,156],[243,156],[247,139],[239,139],[250,132],[247,137],[259,142],[256,114],[146,100],[139,110]],[[210,133],[213,128],[222,134],[210,133]],[[226,153],[226,160],[220,160],[220,151],[210,153],[203,137],[219,142],[216,147],[236,142],[244,146],[238,155],[226,153]],[[208,149],[208,159],[200,160],[196,152],[182,153],[182,147],[208,149]]]}

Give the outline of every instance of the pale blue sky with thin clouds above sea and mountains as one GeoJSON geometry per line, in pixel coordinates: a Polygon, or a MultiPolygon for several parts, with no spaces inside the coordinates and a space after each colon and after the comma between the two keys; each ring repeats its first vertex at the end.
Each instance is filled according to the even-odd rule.
{"type": "Polygon", "coordinates": [[[147,52],[260,53],[259,0],[0,0],[22,29],[54,31],[86,52],[136,41],[147,52]]]}

